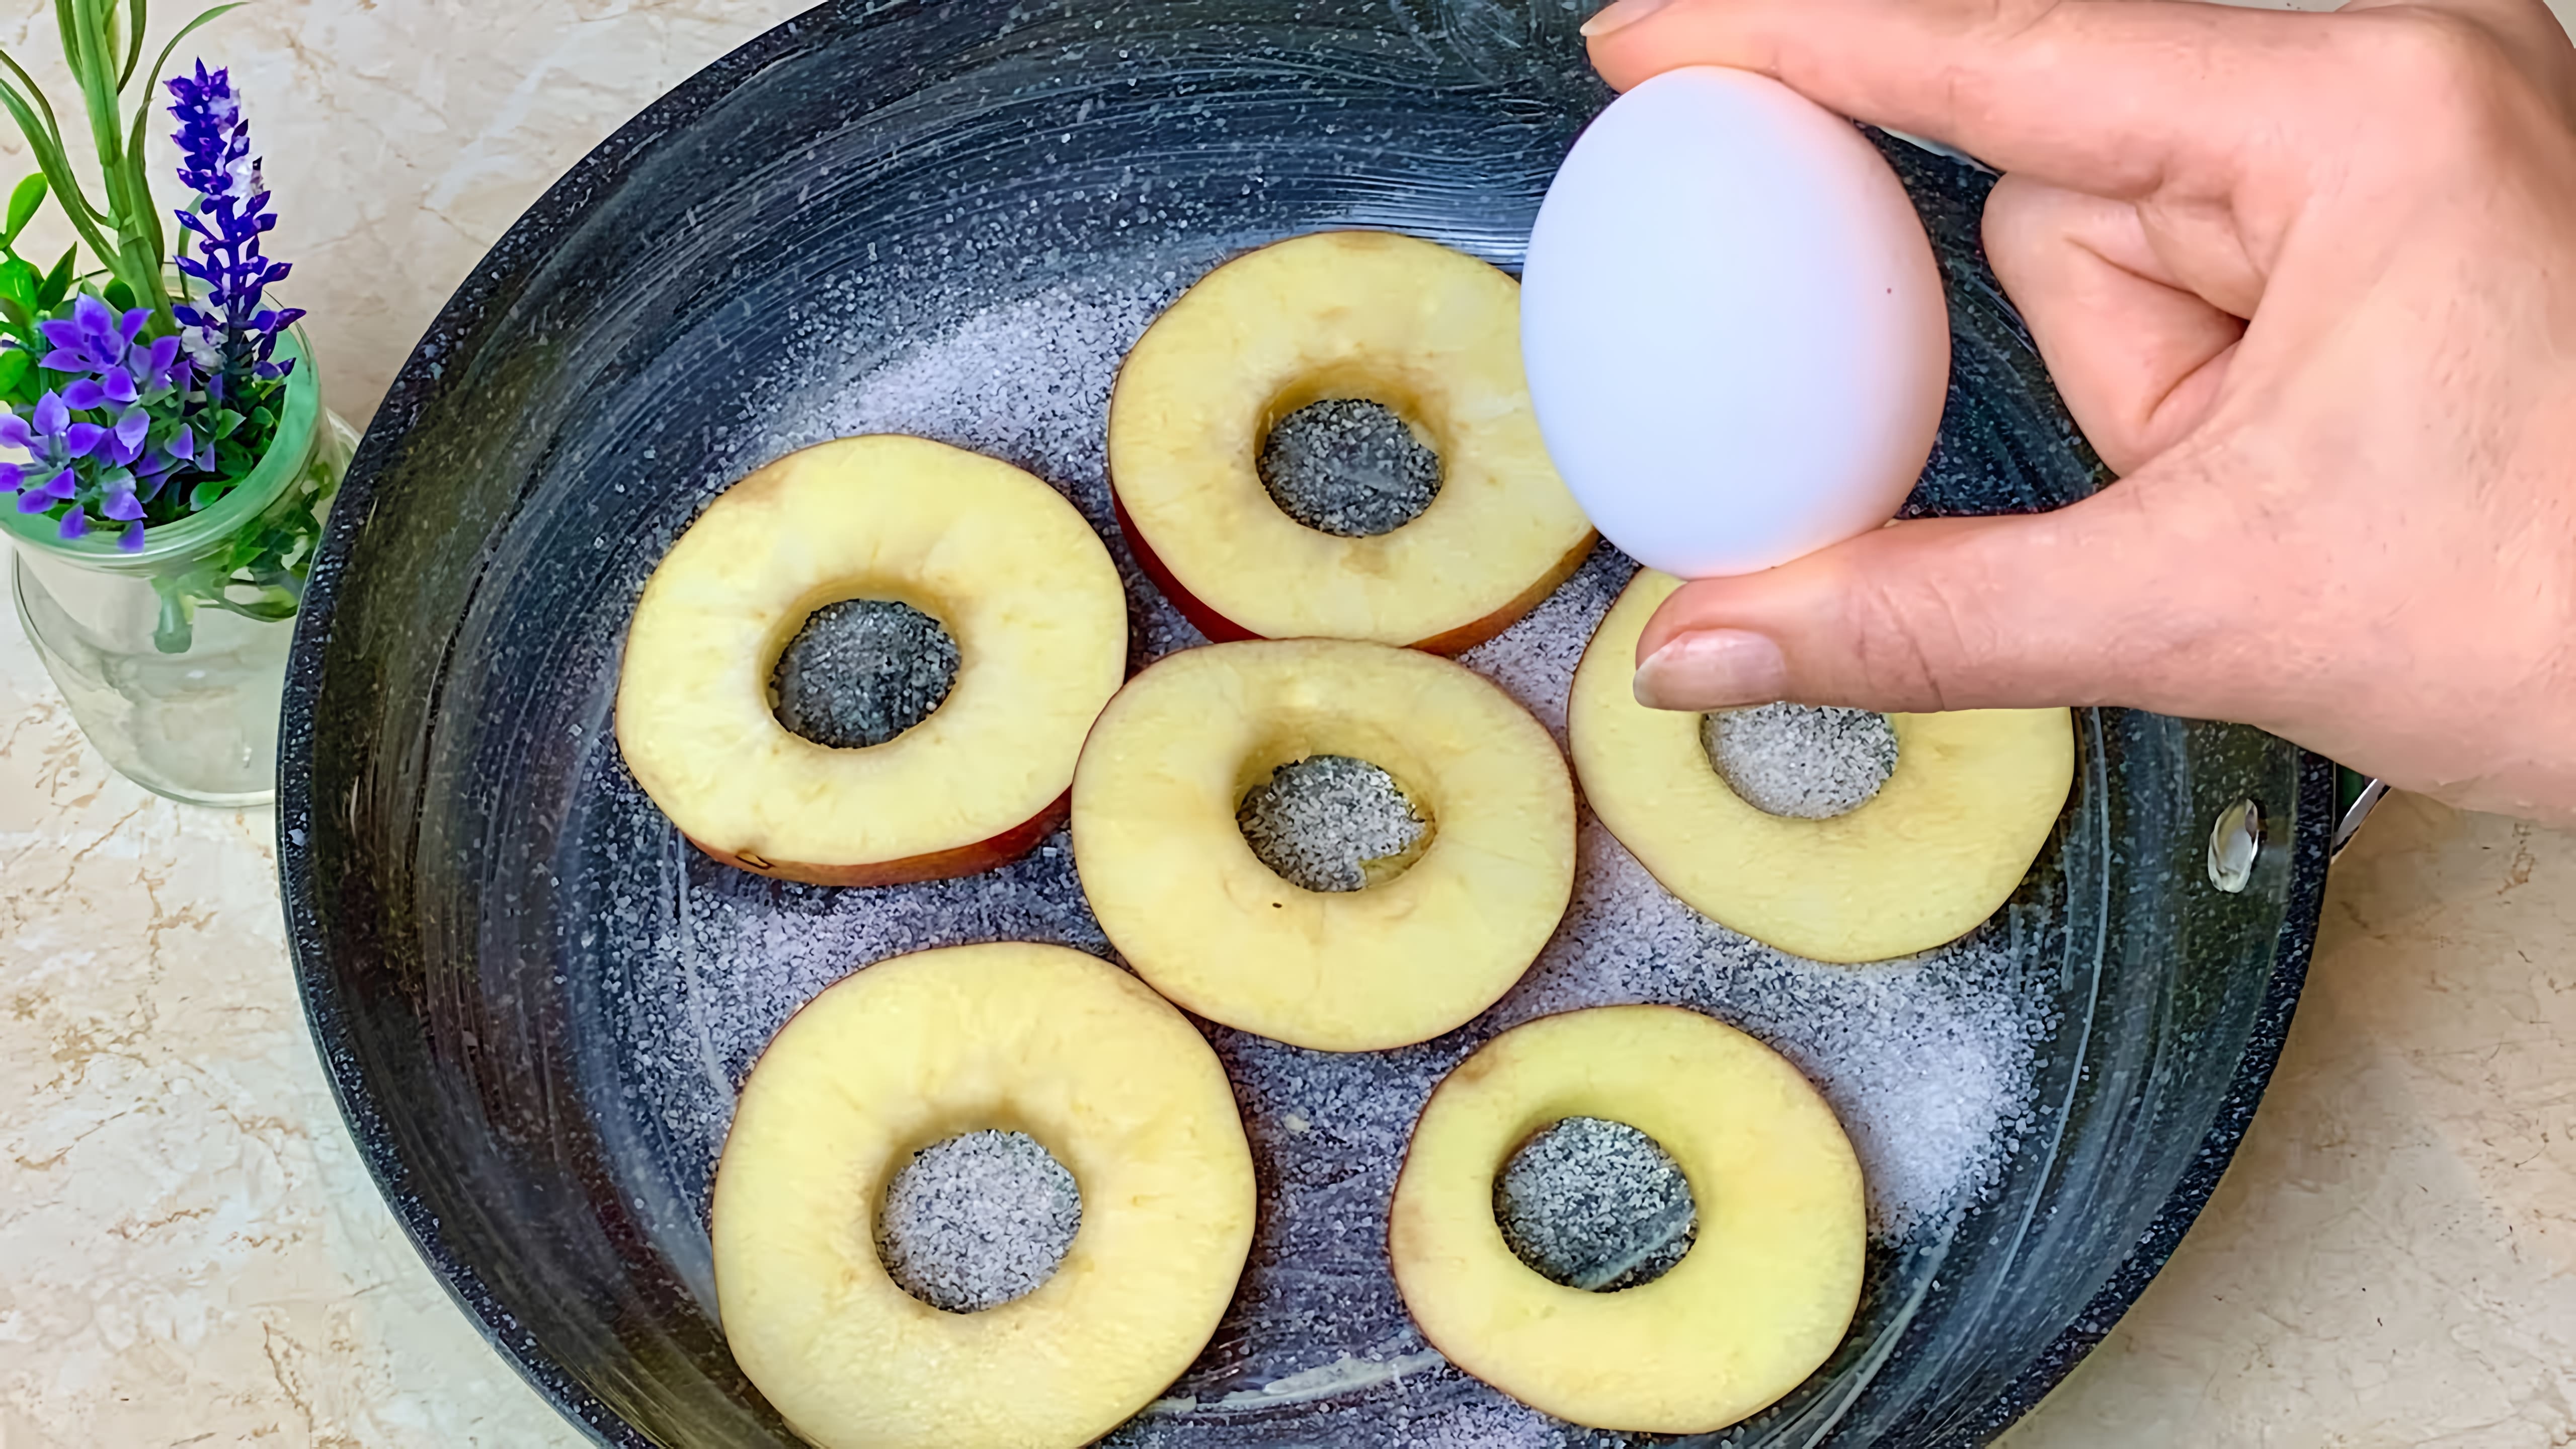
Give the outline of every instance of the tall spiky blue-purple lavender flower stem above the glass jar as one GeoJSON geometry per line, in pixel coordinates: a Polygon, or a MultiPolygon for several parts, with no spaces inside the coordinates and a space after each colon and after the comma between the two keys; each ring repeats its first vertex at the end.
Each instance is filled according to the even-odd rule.
{"type": "Polygon", "coordinates": [[[178,211],[178,224],[198,237],[198,258],[178,258],[178,268],[198,281],[201,297],[170,309],[183,327],[188,356],[206,376],[211,402],[240,400],[245,413],[260,382],[278,382],[294,361],[276,361],[278,333],[304,312],[265,307],[265,291],[286,281],[289,266],[260,255],[260,232],[278,224],[268,211],[260,162],[250,155],[250,121],[232,90],[232,75],[196,64],[196,75],[170,77],[178,106],[178,178],[196,201],[178,211]]]}

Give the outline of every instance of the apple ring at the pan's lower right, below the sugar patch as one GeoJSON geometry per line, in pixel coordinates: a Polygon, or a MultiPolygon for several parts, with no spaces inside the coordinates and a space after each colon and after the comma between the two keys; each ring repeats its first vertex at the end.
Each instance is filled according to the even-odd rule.
{"type": "Polygon", "coordinates": [[[1520,1403],[1638,1434],[1726,1428],[1816,1372],[1860,1302],[1868,1207],[1798,1067],[1677,1006],[1543,1016],[1486,1042],[1414,1124],[1388,1217],[1406,1312],[1520,1403]],[[1566,1116],[1625,1122],[1690,1181],[1698,1240],[1620,1292],[1548,1281],[1494,1222],[1494,1178],[1566,1116]]]}

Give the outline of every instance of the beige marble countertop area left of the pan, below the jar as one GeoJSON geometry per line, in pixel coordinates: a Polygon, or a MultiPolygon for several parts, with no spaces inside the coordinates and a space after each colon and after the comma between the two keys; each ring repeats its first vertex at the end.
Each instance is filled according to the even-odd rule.
{"type": "Polygon", "coordinates": [[[358,1165],[270,833],[116,779],[0,624],[0,1449],[582,1444],[358,1165]]]}

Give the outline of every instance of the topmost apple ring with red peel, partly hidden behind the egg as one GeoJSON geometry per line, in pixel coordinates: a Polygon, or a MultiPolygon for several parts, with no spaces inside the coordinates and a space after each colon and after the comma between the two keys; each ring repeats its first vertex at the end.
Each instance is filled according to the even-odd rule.
{"type": "Polygon", "coordinates": [[[1592,552],[1520,374],[1520,284],[1388,232],[1275,242],[1182,294],[1118,371],[1110,482],[1136,562],[1218,642],[1453,655],[1592,552]],[[1262,487],[1270,428],[1337,397],[1396,410],[1440,454],[1440,492],[1394,531],[1324,534],[1262,487]]]}

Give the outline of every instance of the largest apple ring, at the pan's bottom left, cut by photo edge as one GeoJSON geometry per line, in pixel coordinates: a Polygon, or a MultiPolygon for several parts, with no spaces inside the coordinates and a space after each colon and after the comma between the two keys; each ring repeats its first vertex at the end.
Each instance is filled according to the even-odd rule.
{"type": "Polygon", "coordinates": [[[824,1449],[1072,1449],[1216,1333],[1252,1248],[1252,1150],[1190,1021],[1064,946],[951,946],[817,995],[760,1055],[716,1168],[734,1361],[824,1449]],[[912,1152],[979,1129],[1072,1171],[1082,1227],[1036,1292],[945,1312],[878,1258],[912,1152]]]}

